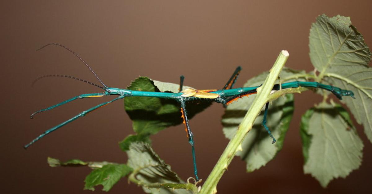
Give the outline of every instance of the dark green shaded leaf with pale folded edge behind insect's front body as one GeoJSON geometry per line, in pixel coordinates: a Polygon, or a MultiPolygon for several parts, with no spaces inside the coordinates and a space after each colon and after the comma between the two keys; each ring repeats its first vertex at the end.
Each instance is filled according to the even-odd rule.
{"type": "MultiPolygon", "coordinates": [[[[174,83],[159,82],[147,77],[139,77],[134,80],[128,89],[151,92],[178,92],[179,85],[174,83]]],[[[185,86],[185,88],[189,88],[185,86]]],[[[172,125],[182,123],[180,106],[171,99],[152,97],[126,97],[125,111],[133,121],[133,129],[138,137],[127,137],[121,143],[126,143],[122,148],[127,149],[132,141],[149,142],[148,136],[172,125]]],[[[211,105],[211,102],[202,101],[187,102],[189,118],[211,105]]]]}

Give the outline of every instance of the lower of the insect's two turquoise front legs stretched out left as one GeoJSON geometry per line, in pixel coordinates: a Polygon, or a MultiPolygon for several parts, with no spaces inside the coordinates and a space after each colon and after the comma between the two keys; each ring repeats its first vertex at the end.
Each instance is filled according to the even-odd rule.
{"type": "Polygon", "coordinates": [[[38,141],[39,139],[41,139],[41,138],[43,138],[45,135],[48,135],[49,133],[51,133],[51,132],[57,130],[57,129],[60,128],[61,126],[64,126],[64,125],[68,124],[69,122],[72,122],[72,121],[76,120],[77,118],[82,117],[82,116],[88,114],[89,112],[92,112],[92,111],[94,111],[94,110],[96,110],[96,109],[98,109],[98,108],[100,108],[100,107],[102,107],[102,106],[105,106],[105,105],[107,105],[107,104],[109,104],[109,103],[111,103],[111,102],[113,102],[113,101],[116,101],[116,100],[118,100],[118,99],[122,99],[122,98],[124,98],[124,97],[125,97],[125,96],[119,96],[118,98],[115,98],[115,99],[113,99],[113,100],[111,100],[111,101],[103,102],[103,103],[101,103],[101,104],[99,104],[99,105],[97,105],[97,106],[94,106],[94,107],[92,107],[92,108],[90,108],[90,109],[87,109],[86,111],[81,112],[80,114],[74,116],[73,118],[70,118],[70,119],[68,119],[67,121],[62,122],[61,124],[59,124],[59,125],[57,125],[57,126],[54,126],[54,127],[50,128],[50,129],[48,129],[47,131],[45,131],[44,133],[42,133],[41,135],[39,135],[38,137],[36,137],[35,139],[33,139],[29,144],[25,145],[24,148],[25,148],[25,149],[28,148],[30,145],[32,145],[33,143],[35,143],[35,142],[38,141]]]}

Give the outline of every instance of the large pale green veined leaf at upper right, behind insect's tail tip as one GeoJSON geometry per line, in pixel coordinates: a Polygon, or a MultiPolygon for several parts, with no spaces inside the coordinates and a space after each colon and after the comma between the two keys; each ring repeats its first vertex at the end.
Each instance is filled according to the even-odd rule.
{"type": "Polygon", "coordinates": [[[310,29],[310,59],[320,72],[319,79],[351,90],[356,99],[346,103],[372,142],[372,69],[371,51],[362,34],[352,26],[350,17],[319,16],[310,29]]]}

